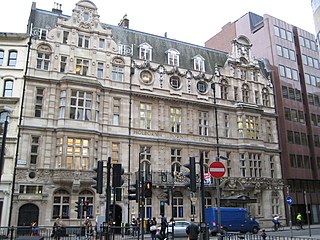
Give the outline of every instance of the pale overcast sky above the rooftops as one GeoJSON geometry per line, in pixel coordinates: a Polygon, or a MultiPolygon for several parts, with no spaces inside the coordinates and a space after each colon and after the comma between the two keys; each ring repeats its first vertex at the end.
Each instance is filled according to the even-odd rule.
{"type": "MultiPolygon", "coordinates": [[[[0,0],[0,32],[26,32],[32,2],[51,11],[62,4],[63,14],[71,15],[78,0],[0,0]]],[[[250,12],[269,14],[315,33],[311,0],[92,0],[100,21],[117,25],[124,14],[130,28],[204,45],[228,22],[250,12]]]]}

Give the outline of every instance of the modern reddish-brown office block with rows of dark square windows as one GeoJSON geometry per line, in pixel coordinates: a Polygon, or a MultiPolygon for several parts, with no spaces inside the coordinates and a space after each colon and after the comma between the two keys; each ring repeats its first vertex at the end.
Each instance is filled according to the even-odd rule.
{"type": "Polygon", "coordinates": [[[249,12],[205,45],[229,51],[232,40],[242,35],[253,44],[252,54],[271,65],[285,197],[293,199],[293,220],[298,212],[307,219],[307,204],[311,223],[319,223],[320,70],[315,36],[270,15],[249,12]]]}

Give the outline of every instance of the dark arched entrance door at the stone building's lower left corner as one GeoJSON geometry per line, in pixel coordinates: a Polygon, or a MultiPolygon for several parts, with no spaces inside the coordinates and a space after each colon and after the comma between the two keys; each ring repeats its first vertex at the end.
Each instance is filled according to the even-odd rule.
{"type": "Polygon", "coordinates": [[[31,223],[39,221],[38,206],[28,203],[20,207],[18,217],[18,235],[28,235],[31,232],[31,223]]]}

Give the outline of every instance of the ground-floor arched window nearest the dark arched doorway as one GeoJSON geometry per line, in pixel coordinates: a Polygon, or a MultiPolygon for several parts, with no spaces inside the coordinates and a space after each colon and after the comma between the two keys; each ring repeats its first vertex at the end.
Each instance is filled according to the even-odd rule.
{"type": "Polygon", "coordinates": [[[53,194],[52,218],[68,219],[70,216],[70,193],[59,189],[53,194]]]}

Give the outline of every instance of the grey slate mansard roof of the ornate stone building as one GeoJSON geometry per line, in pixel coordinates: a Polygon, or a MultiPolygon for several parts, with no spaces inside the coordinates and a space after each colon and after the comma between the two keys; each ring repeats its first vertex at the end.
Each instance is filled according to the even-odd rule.
{"type": "MultiPolygon", "coordinates": [[[[37,9],[35,3],[32,4],[28,32],[30,26],[34,28],[52,29],[57,24],[58,17],[65,19],[70,16],[60,14],[59,12],[51,12],[37,9]],[[32,23],[32,24],[30,24],[32,23]]],[[[136,30],[101,23],[103,28],[112,29],[112,37],[116,43],[134,46],[134,58],[138,58],[138,47],[141,43],[147,42],[152,47],[152,62],[158,64],[166,64],[165,52],[171,48],[176,49],[180,53],[180,67],[185,69],[193,69],[193,58],[201,55],[205,60],[206,74],[213,74],[215,65],[223,66],[227,60],[227,53],[206,48],[166,37],[153,34],[139,32],[136,30]]]]}

